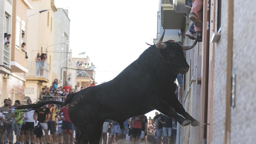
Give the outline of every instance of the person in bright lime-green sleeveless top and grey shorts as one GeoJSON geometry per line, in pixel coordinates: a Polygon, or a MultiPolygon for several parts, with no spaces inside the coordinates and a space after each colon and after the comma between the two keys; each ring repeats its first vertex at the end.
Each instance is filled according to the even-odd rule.
{"type": "MultiPolygon", "coordinates": [[[[20,101],[19,100],[15,100],[14,103],[15,106],[19,106],[20,105],[20,101]]],[[[22,127],[22,118],[23,118],[23,112],[24,109],[15,109],[14,110],[14,134],[16,135],[16,140],[17,143],[20,143],[20,131],[21,131],[21,127],[22,127]]]]}

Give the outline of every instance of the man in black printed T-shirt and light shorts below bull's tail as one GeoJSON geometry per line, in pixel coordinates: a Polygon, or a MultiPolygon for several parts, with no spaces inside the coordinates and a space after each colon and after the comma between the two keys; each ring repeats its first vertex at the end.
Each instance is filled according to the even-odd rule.
{"type": "MultiPolygon", "coordinates": [[[[52,117],[52,113],[49,110],[49,108],[42,106],[39,109],[36,109],[34,112],[34,117],[37,114],[37,120],[40,122],[40,125],[42,127],[42,129],[45,132],[45,142],[49,143],[49,135],[48,135],[48,125],[47,122],[49,121],[49,119],[52,117]],[[50,117],[48,119],[46,119],[46,115],[50,114],[50,117]]],[[[39,138],[40,143],[42,143],[42,137],[39,138]]]]}

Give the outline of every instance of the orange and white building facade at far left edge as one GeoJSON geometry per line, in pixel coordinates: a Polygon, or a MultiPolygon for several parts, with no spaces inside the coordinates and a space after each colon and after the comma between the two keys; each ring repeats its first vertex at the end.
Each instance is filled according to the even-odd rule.
{"type": "Polygon", "coordinates": [[[0,103],[4,99],[12,101],[24,98],[25,73],[28,72],[28,58],[26,58],[27,9],[32,9],[31,1],[3,0],[0,2],[0,103]],[[4,38],[4,33],[10,38],[4,38]],[[5,43],[9,42],[9,46],[5,43]]]}

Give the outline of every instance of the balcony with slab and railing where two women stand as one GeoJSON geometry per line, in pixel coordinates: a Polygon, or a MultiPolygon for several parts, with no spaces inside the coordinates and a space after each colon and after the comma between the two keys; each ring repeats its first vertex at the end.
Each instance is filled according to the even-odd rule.
{"type": "Polygon", "coordinates": [[[29,68],[26,80],[49,82],[49,64],[46,61],[35,61],[33,67],[29,68]]]}

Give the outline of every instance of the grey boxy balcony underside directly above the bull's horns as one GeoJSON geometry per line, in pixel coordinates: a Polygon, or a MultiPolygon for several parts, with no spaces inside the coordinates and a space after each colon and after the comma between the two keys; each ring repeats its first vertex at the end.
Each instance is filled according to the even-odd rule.
{"type": "Polygon", "coordinates": [[[161,20],[163,29],[181,29],[184,20],[183,13],[176,13],[171,1],[162,0],[161,20]]]}

